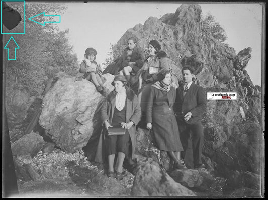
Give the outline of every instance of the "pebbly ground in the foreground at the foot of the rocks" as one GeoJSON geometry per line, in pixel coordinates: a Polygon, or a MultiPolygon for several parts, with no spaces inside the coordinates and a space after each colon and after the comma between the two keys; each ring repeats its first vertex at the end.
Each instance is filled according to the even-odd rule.
{"type": "MultiPolygon", "coordinates": [[[[73,154],[60,149],[52,153],[40,151],[32,158],[31,166],[41,178],[18,179],[19,197],[131,196],[132,173],[126,170],[123,180],[108,178],[96,163],[86,160],[83,151],[73,154]]],[[[223,197],[226,195],[224,185],[225,179],[216,177],[208,190],[194,192],[197,196],[223,197]]]]}

